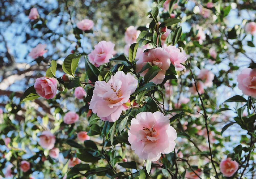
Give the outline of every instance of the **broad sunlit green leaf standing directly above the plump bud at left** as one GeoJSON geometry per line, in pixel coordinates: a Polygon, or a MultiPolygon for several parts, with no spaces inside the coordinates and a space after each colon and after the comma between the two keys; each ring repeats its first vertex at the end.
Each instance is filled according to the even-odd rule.
{"type": "Polygon", "coordinates": [[[81,54],[79,54],[79,55],[69,54],[65,58],[65,60],[63,61],[62,70],[65,73],[74,76],[74,73],[75,73],[75,71],[77,69],[77,65],[78,65],[79,59],[81,57],[82,57],[81,54]]]}

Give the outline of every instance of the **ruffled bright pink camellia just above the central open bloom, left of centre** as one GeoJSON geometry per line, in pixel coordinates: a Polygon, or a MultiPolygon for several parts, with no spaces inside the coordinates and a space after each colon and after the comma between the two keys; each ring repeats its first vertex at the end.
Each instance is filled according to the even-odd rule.
{"type": "Polygon", "coordinates": [[[105,40],[100,41],[88,55],[89,61],[97,67],[108,63],[114,53],[114,46],[115,44],[112,42],[106,42],[105,40]]]}

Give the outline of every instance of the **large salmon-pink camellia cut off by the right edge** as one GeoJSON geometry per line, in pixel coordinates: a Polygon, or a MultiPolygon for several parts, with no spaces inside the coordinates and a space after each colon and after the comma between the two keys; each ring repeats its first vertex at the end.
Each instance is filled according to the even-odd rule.
{"type": "Polygon", "coordinates": [[[237,76],[238,88],[242,93],[256,97],[256,69],[246,68],[237,76]]]}

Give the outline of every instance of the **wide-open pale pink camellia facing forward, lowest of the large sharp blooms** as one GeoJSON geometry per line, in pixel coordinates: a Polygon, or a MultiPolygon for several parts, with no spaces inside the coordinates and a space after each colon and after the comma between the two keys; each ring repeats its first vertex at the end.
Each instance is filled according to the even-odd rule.
{"type": "Polygon", "coordinates": [[[143,160],[157,161],[162,153],[175,148],[176,130],[161,112],[141,112],[131,121],[128,141],[132,150],[143,160]],[[153,150],[152,150],[153,149],[153,150]]]}

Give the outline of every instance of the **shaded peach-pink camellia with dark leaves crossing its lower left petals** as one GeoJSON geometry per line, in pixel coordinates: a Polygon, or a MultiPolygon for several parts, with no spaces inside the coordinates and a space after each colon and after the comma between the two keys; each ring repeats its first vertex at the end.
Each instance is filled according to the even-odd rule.
{"type": "MultiPolygon", "coordinates": [[[[136,62],[136,72],[139,72],[146,63],[156,65],[161,69],[161,71],[159,71],[158,74],[150,81],[155,84],[162,83],[165,77],[165,72],[170,67],[170,55],[160,47],[145,52],[136,62]]],[[[143,71],[140,75],[145,76],[147,71],[148,69],[143,71]]]]}

